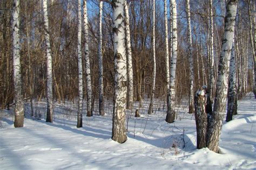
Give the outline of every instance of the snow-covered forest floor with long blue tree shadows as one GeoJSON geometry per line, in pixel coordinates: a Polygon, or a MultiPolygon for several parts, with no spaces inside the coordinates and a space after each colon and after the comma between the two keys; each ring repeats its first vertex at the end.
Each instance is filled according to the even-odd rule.
{"type": "Polygon", "coordinates": [[[83,117],[79,129],[71,103],[56,105],[54,123],[45,122],[45,107],[39,103],[42,119],[26,116],[24,128],[16,129],[12,111],[0,110],[0,169],[256,169],[252,94],[239,101],[234,120],[224,123],[221,154],[196,149],[194,116],[183,105],[177,108],[176,122],[167,124],[163,104],[156,103],[157,111],[150,116],[146,108],[139,118],[127,112],[129,138],[124,144],[111,140],[111,103],[105,102],[106,116],[83,117]]]}

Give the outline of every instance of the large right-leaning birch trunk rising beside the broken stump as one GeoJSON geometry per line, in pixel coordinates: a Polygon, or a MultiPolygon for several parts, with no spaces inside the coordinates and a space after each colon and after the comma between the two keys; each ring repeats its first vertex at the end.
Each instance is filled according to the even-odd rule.
{"type": "Polygon", "coordinates": [[[221,46],[221,54],[218,67],[217,89],[214,100],[213,113],[207,130],[207,147],[209,150],[218,152],[220,132],[223,124],[223,112],[225,111],[227,98],[227,80],[232,44],[234,39],[235,17],[237,13],[237,0],[230,0],[226,7],[224,37],[221,46]]]}

